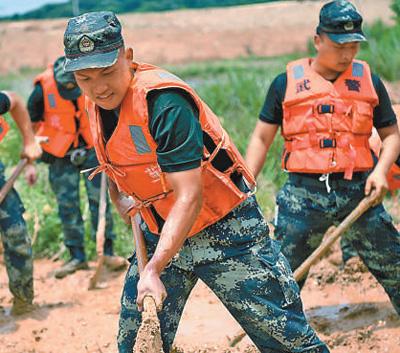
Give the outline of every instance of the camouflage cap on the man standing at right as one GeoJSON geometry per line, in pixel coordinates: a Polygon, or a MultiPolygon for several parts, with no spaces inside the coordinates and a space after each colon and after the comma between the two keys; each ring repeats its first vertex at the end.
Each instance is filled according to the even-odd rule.
{"type": "Polygon", "coordinates": [[[336,43],[365,42],[361,29],[362,16],[347,0],[325,4],[319,13],[317,33],[324,32],[336,43]]]}

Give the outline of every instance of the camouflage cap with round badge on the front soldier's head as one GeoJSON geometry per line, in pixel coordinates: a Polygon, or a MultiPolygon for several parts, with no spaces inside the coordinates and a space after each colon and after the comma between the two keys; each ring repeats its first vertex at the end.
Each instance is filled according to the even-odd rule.
{"type": "Polygon", "coordinates": [[[88,12],[73,17],[64,33],[64,69],[70,72],[111,66],[123,45],[121,23],[113,12],[88,12]]]}

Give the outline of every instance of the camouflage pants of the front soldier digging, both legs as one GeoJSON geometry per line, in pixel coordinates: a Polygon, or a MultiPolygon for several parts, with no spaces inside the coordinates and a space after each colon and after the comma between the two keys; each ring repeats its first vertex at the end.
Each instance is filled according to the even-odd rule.
{"type": "MultiPolygon", "coordinates": [[[[142,224],[151,254],[158,237],[142,224]]],[[[201,279],[246,330],[261,352],[329,352],[307,323],[292,277],[254,198],[186,240],[162,273],[168,297],[160,313],[164,351],[171,346],[186,300],[201,279]]],[[[129,268],[121,299],[118,348],[131,353],[141,316],[136,308],[138,271],[129,268]]]]}

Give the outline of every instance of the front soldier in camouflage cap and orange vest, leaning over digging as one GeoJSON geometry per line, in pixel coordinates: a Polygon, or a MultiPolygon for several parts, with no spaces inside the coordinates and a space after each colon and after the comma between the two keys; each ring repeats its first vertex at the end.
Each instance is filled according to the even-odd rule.
{"type": "Polygon", "coordinates": [[[209,135],[212,126],[222,139],[212,111],[175,75],[133,63],[133,51],[123,46],[119,21],[110,12],[72,18],[64,38],[65,68],[74,71],[87,97],[98,171],[115,182],[111,197],[124,218],[126,210],[140,210],[151,255],[140,278],[132,259],[125,279],[119,352],[133,350],[145,295],[163,303],[163,347],[170,352],[198,279],[219,296],[261,352],[328,352],[308,324],[288,263],[249,195],[246,180],[252,177],[242,157],[228,136],[218,152],[220,142],[209,135]],[[211,181],[212,175],[218,177],[211,181]],[[169,185],[172,190],[166,191],[169,185]],[[164,191],[157,195],[158,188],[164,191]],[[241,198],[228,204],[234,194],[241,198]]]}

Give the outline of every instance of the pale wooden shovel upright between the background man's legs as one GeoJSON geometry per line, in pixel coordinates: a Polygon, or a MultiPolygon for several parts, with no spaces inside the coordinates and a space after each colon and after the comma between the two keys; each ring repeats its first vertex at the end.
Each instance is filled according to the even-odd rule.
{"type": "Polygon", "coordinates": [[[96,232],[96,252],[97,252],[97,266],[94,275],[89,281],[89,290],[98,288],[97,282],[104,267],[104,242],[106,232],[106,208],[107,208],[107,177],[103,172],[101,173],[100,185],[100,201],[99,201],[99,220],[97,223],[96,232]]]}

